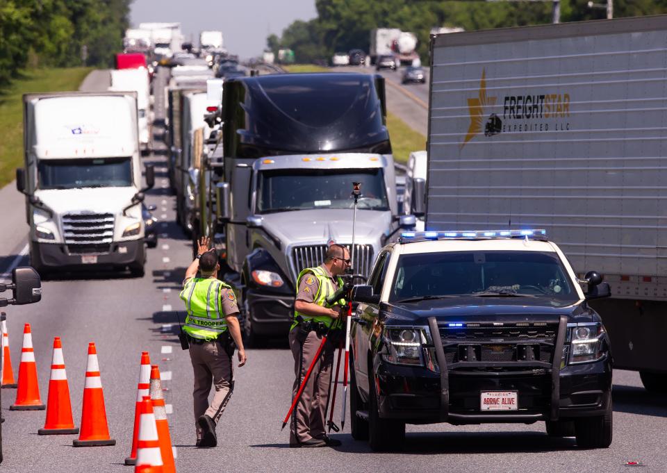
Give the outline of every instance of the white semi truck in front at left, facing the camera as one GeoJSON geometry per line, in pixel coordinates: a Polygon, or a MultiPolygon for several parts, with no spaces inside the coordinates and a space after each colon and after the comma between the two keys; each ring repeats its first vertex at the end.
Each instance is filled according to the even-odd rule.
{"type": "Polygon", "coordinates": [[[40,274],[70,269],[129,269],[144,274],[142,188],[136,94],[26,94],[25,168],[31,266],[40,274]]]}

